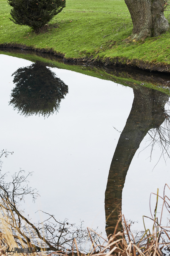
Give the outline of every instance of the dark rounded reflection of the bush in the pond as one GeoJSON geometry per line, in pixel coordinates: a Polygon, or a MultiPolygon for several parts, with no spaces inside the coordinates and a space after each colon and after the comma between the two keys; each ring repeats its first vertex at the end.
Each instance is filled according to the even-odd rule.
{"type": "Polygon", "coordinates": [[[58,111],[61,99],[68,93],[68,86],[40,61],[19,68],[12,76],[16,86],[9,104],[26,116],[49,116],[58,111]]]}

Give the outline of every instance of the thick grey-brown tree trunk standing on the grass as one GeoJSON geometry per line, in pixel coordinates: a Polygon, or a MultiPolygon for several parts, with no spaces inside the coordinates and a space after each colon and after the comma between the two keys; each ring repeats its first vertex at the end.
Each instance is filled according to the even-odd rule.
{"type": "Polygon", "coordinates": [[[125,0],[125,3],[133,22],[132,40],[143,41],[168,30],[169,24],[164,17],[164,0],[125,0]]]}

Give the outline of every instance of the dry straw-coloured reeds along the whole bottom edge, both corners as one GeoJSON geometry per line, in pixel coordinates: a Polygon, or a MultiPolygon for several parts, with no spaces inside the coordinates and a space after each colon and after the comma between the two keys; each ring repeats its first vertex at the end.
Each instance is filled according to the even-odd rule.
{"type": "MultiPolygon", "coordinates": [[[[114,233],[108,237],[106,240],[105,238],[102,238],[99,234],[96,233],[96,231],[91,230],[89,227],[87,228],[87,232],[89,234],[89,241],[91,241],[91,249],[89,250],[89,253],[82,253],[79,251],[79,248],[77,246],[77,240],[74,238],[72,243],[72,249],[71,250],[58,250],[52,253],[41,251],[41,252],[35,252],[32,253],[33,255],[61,255],[61,256],[165,256],[170,255],[170,227],[167,225],[166,227],[161,224],[162,222],[162,215],[163,210],[167,210],[167,212],[170,214],[170,198],[165,195],[165,190],[169,189],[170,187],[165,184],[164,186],[164,195],[163,197],[159,196],[159,190],[157,191],[157,194],[152,193],[153,195],[156,195],[156,207],[154,209],[154,212],[151,212],[150,220],[153,221],[153,228],[152,232],[145,228],[145,231],[142,235],[142,237],[136,241],[136,239],[133,236],[133,232],[130,231],[130,224],[127,224],[124,215],[119,216],[119,221],[117,222],[117,225],[115,227],[114,233]],[[160,219],[157,217],[157,207],[158,207],[158,200],[159,198],[162,200],[162,209],[161,209],[161,215],[160,219]],[[123,231],[117,232],[117,227],[119,222],[122,221],[123,231]],[[91,236],[91,232],[94,232],[99,238],[96,240],[93,239],[91,236]],[[103,240],[103,243],[101,241],[103,240]]],[[[151,209],[151,207],[150,207],[151,209]]],[[[10,229],[10,225],[8,224],[7,216],[4,214],[0,215],[0,227],[3,232],[0,233],[0,256],[2,255],[13,255],[12,253],[7,252],[8,250],[13,250],[14,247],[18,247],[18,244],[16,243],[14,239],[14,235],[12,230],[10,229]]],[[[22,239],[20,240],[20,244],[22,247],[24,247],[24,243],[22,239]]],[[[29,244],[27,244],[27,247],[29,247],[29,244]]],[[[31,244],[30,244],[31,247],[31,244]]],[[[27,253],[18,253],[20,255],[26,256],[27,253]]]]}

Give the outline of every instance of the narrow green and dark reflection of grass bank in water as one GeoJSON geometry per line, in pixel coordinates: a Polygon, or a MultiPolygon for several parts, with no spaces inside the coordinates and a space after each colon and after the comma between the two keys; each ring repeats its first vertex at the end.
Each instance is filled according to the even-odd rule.
{"type": "Polygon", "coordinates": [[[94,76],[99,79],[114,81],[118,84],[134,87],[137,85],[150,87],[170,95],[169,77],[160,74],[150,74],[150,72],[139,72],[139,70],[107,68],[102,66],[91,66],[85,64],[74,64],[63,62],[61,58],[56,58],[54,55],[40,54],[38,52],[10,50],[0,51],[0,54],[23,58],[32,62],[42,61],[49,67],[57,67],[61,69],[71,70],[82,73],[88,76],[94,76]],[[142,85],[141,85],[142,84],[142,85]]]}

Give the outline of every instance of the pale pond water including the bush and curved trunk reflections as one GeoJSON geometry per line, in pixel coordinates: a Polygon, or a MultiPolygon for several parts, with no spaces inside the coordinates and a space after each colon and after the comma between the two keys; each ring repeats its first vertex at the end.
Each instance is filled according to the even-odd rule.
{"type": "MultiPolygon", "coordinates": [[[[32,221],[43,217],[37,212],[41,209],[60,221],[84,221],[85,227],[98,227],[105,236],[105,214],[108,217],[122,204],[125,218],[135,221],[132,229],[144,230],[142,216],[150,216],[150,193],[159,188],[163,195],[165,183],[170,185],[168,142],[162,156],[159,140],[155,143],[151,160],[152,147],[146,148],[156,131],[168,141],[164,120],[168,119],[169,96],[3,54],[0,73],[0,149],[14,151],[3,159],[2,171],[10,175],[20,168],[34,172],[30,185],[40,197],[35,204],[30,198],[22,206],[32,221]],[[51,98],[42,86],[48,99],[40,103],[43,81],[56,94],[51,98]],[[58,112],[48,116],[53,107],[58,112]]],[[[155,204],[152,197],[153,211],[155,204]]],[[[117,218],[115,211],[108,227],[117,218]]]]}

